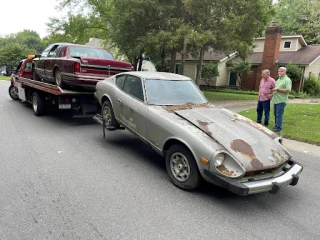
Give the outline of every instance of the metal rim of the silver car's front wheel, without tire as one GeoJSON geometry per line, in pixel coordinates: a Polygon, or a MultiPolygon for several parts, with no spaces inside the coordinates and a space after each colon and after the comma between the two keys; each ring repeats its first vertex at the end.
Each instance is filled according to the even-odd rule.
{"type": "Polygon", "coordinates": [[[174,153],[170,159],[172,175],[179,182],[185,182],[190,177],[190,166],[187,158],[182,153],[174,153]]]}

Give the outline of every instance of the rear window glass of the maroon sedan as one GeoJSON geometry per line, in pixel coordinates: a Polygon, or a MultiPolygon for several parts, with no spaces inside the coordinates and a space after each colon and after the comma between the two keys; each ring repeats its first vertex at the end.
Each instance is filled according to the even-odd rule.
{"type": "Polygon", "coordinates": [[[92,57],[110,60],[114,59],[112,54],[107,50],[79,46],[70,46],[69,55],[72,57],[92,57]]]}

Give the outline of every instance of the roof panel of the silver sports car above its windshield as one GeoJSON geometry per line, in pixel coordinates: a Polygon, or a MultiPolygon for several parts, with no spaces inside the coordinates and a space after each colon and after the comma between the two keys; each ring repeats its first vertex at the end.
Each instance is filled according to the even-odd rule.
{"type": "Polygon", "coordinates": [[[122,74],[130,74],[144,79],[153,80],[191,80],[191,78],[168,72],[131,71],[122,74]]]}

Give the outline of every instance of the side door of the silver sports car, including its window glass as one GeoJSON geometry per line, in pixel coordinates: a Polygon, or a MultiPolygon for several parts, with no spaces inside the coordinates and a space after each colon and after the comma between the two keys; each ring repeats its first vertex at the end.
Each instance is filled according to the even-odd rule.
{"type": "Polygon", "coordinates": [[[140,137],[146,137],[146,119],[148,108],[145,103],[145,94],[142,79],[127,75],[122,91],[116,96],[118,119],[132,132],[140,137]]]}

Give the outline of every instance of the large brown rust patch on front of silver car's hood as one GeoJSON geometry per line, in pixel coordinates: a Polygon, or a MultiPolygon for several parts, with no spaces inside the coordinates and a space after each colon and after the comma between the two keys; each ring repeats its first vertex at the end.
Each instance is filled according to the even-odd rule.
{"type": "Polygon", "coordinates": [[[230,147],[235,152],[239,152],[245,157],[249,158],[253,170],[263,168],[263,163],[258,160],[252,147],[247,142],[243,141],[242,139],[235,139],[231,142],[230,147]]]}

